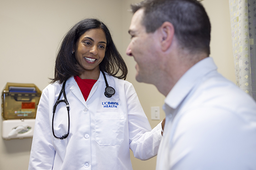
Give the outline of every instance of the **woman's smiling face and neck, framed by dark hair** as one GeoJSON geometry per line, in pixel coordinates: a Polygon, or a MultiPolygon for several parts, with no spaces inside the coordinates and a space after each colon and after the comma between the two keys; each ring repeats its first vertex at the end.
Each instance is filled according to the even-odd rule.
{"type": "Polygon", "coordinates": [[[81,79],[98,79],[99,64],[106,51],[106,35],[101,28],[90,29],[83,33],[76,42],[76,61],[85,70],[79,75],[81,79]]]}

